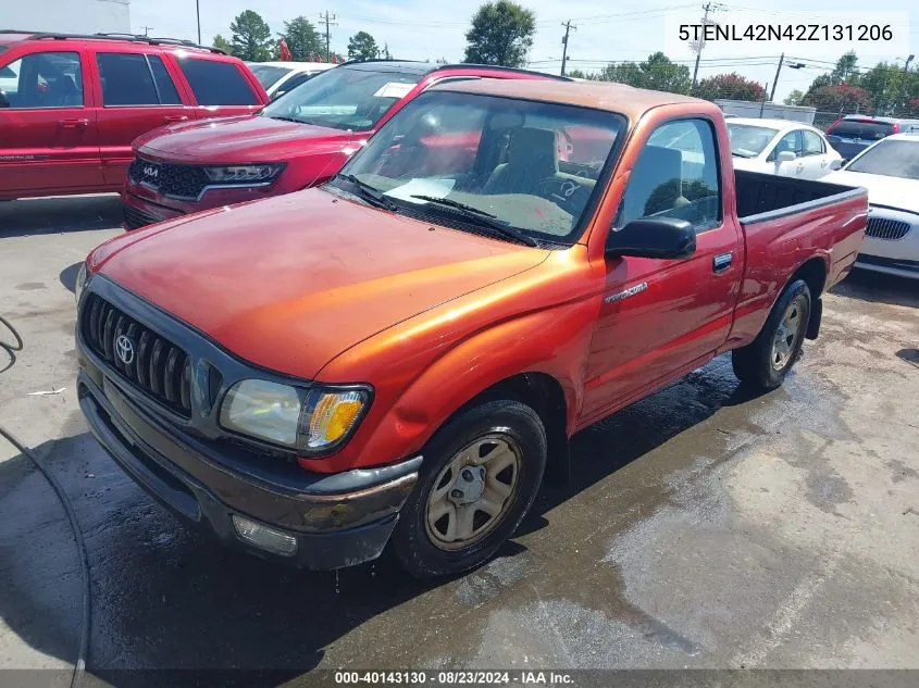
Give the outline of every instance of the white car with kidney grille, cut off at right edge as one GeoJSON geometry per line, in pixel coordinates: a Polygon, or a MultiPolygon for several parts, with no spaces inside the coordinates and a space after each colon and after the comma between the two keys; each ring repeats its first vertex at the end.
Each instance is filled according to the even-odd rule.
{"type": "Polygon", "coordinates": [[[856,267],[919,279],[919,134],[894,134],[822,182],[868,189],[856,267]]]}

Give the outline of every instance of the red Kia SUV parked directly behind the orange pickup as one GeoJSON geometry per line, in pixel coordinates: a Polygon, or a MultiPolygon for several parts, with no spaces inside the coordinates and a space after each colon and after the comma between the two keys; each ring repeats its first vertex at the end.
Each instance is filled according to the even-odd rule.
{"type": "Polygon", "coordinates": [[[258,115],[193,122],[137,139],[122,195],[125,228],[321,184],[415,96],[434,84],[474,78],[561,77],[392,60],[338,65],[258,115]]]}

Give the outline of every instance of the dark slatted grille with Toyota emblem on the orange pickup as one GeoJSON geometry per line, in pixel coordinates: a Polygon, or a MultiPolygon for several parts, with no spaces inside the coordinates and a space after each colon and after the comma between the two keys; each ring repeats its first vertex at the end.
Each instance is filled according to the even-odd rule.
{"type": "Polygon", "coordinates": [[[191,414],[191,364],[182,349],[95,293],[80,318],[86,343],[122,377],[179,415],[191,414]]]}

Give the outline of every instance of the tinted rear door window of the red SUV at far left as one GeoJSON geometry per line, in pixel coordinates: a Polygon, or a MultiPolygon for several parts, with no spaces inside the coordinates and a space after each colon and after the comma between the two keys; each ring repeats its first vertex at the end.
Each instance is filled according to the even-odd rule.
{"type": "Polygon", "coordinates": [[[100,52],[96,54],[96,64],[105,108],[182,103],[159,55],[100,52]]]}

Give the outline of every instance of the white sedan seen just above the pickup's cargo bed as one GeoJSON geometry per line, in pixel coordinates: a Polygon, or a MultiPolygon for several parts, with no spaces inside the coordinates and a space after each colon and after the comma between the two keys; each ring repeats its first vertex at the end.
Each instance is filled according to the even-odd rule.
{"type": "Polygon", "coordinates": [[[842,166],[823,133],[800,122],[731,117],[725,122],[734,168],[819,179],[842,166]]]}

